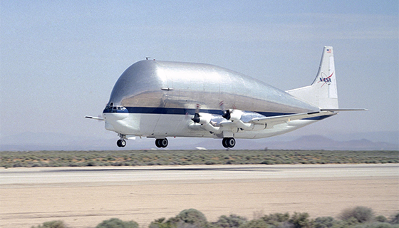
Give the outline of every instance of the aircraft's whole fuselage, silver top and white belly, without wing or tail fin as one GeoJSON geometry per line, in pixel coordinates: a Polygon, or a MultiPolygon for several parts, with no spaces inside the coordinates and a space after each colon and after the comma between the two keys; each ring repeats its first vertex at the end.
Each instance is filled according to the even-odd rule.
{"type": "MultiPolygon", "coordinates": [[[[139,61],[115,83],[107,108],[105,128],[121,135],[154,138],[215,137],[189,128],[197,104],[201,113],[222,115],[227,109],[265,116],[318,111],[319,108],[241,73],[202,63],[139,61]]],[[[294,120],[271,129],[230,129],[234,138],[265,138],[301,128],[316,120],[294,120]]]]}

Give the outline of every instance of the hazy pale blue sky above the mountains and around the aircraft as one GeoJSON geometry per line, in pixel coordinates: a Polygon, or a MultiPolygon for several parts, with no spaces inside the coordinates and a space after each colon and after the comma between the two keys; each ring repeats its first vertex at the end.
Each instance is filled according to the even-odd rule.
{"type": "Polygon", "coordinates": [[[296,134],[399,130],[399,1],[0,1],[0,138],[110,138],[99,115],[145,59],[211,63],[289,90],[333,46],[340,113],[296,134]]]}

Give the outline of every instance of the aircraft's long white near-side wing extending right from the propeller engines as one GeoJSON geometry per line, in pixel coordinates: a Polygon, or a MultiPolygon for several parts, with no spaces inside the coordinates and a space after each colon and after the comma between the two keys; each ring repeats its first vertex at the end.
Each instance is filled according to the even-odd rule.
{"type": "Polygon", "coordinates": [[[306,120],[306,119],[316,119],[322,117],[329,117],[331,115],[336,115],[338,113],[333,113],[330,110],[322,110],[319,112],[312,112],[312,113],[299,113],[299,114],[290,114],[290,115],[277,115],[277,116],[270,116],[264,118],[253,118],[249,120],[248,123],[254,124],[266,124],[266,125],[276,125],[279,123],[287,123],[292,120],[306,120]]]}

